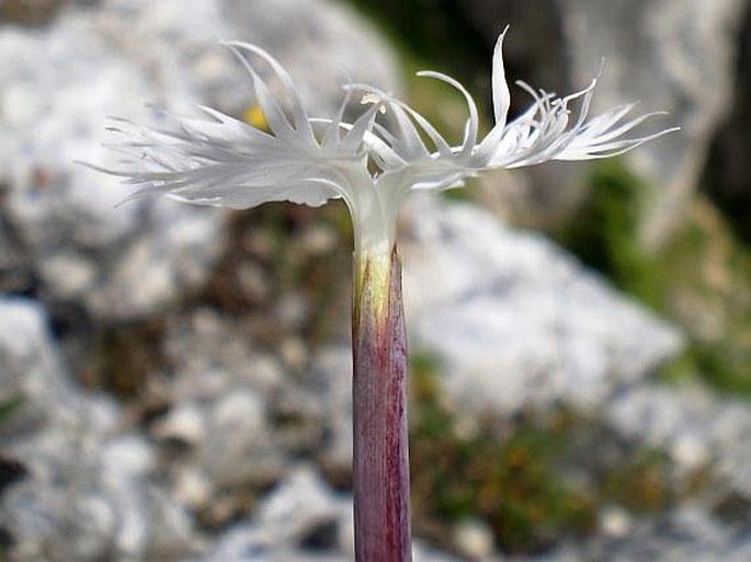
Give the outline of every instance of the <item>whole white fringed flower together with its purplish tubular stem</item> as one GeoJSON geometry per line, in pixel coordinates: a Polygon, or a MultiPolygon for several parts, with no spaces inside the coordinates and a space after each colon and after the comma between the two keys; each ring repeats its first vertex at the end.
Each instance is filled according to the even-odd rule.
{"type": "Polygon", "coordinates": [[[453,78],[419,74],[457,89],[468,119],[452,145],[414,108],[367,84],[345,84],[338,115],[312,117],[284,68],[262,48],[227,43],[250,74],[268,127],[216,110],[205,118],[171,117],[153,129],[118,119],[124,169],[105,170],[138,187],[129,197],[166,195],[195,205],[247,209],[288,200],[319,206],[341,198],[354,225],[353,290],[353,486],[357,562],[411,559],[407,439],[408,353],[396,246],[397,214],[413,190],[463,185],[485,170],[521,168],[549,160],[590,160],[621,154],[675,129],[630,136],[650,113],[636,118],[634,104],[590,117],[596,79],[580,92],[556,98],[524,83],[532,104],[509,121],[510,93],[498,38],[492,62],[494,125],[478,138],[471,95],[453,78]],[[280,85],[272,93],[262,70],[280,85]],[[353,96],[363,102],[348,122],[353,96]],[[576,110],[572,106],[576,105],[576,110]],[[388,114],[389,117],[382,117],[388,114]]]}

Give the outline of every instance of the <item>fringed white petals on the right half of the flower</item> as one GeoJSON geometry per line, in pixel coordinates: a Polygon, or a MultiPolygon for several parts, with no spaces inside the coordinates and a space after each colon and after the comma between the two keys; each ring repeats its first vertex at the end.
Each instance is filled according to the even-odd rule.
{"type": "MultiPolygon", "coordinates": [[[[418,182],[417,186],[428,184],[440,187],[451,184],[451,179],[445,173],[446,169],[464,170],[463,175],[467,176],[487,169],[522,168],[549,160],[608,158],[678,130],[678,128],[670,128],[646,136],[627,136],[631,129],[650,117],[663,115],[662,112],[653,112],[637,118],[628,118],[628,114],[636,104],[621,105],[588,119],[596,79],[592,80],[584,90],[566,98],[556,98],[555,94],[544,90],[535,91],[526,83],[517,82],[531,94],[533,103],[519,117],[508,122],[511,95],[502,55],[504,35],[505,31],[498,38],[493,54],[492,95],[496,124],[482,140],[478,141],[477,138],[479,123],[475,101],[467,90],[451,77],[439,72],[419,73],[419,76],[443,80],[464,95],[469,118],[459,147],[448,147],[445,139],[434,130],[430,123],[403,102],[383,93],[379,94],[371,87],[361,87],[374,96],[380,95],[384,103],[387,103],[397,115],[398,134],[386,136],[382,131],[380,136],[388,142],[396,156],[401,157],[402,165],[414,165],[425,158],[428,149],[420,140],[420,131],[423,137],[430,138],[433,142],[435,150],[430,153],[430,158],[435,162],[436,170],[443,169],[445,181],[439,182],[431,176],[433,174],[428,172],[426,181],[418,182]],[[579,110],[576,115],[572,115],[571,106],[577,102],[579,110]]],[[[396,160],[396,158],[390,156],[389,160],[396,160]]]]}

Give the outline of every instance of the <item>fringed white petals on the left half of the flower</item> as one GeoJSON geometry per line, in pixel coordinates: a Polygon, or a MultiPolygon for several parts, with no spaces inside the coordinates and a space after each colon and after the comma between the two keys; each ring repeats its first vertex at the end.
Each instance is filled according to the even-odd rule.
{"type": "MultiPolygon", "coordinates": [[[[126,200],[170,195],[197,205],[248,208],[272,200],[310,206],[330,198],[353,198],[354,186],[342,173],[361,168],[366,158],[364,138],[372,135],[375,110],[368,108],[340,134],[330,124],[319,142],[292,78],[276,60],[253,45],[227,46],[251,76],[257,101],[270,133],[201,107],[207,118],[177,117],[162,112],[168,126],[150,129],[116,119],[111,130],[125,137],[110,148],[122,153],[123,168],[107,170],[139,187],[126,200]],[[265,64],[278,81],[278,96],[248,56],[265,64]]],[[[341,119],[345,96],[338,119],[341,119]]]]}

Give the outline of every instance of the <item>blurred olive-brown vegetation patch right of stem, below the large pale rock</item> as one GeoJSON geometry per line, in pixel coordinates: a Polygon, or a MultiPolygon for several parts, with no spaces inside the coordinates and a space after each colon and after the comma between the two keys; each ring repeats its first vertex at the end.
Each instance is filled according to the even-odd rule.
{"type": "Polygon", "coordinates": [[[634,450],[562,409],[503,423],[487,416],[467,427],[442,403],[439,367],[419,354],[412,365],[412,501],[421,536],[451,548],[452,524],[480,518],[504,551],[536,552],[592,532],[602,505],[655,513],[681,495],[665,455],[634,450]]]}

